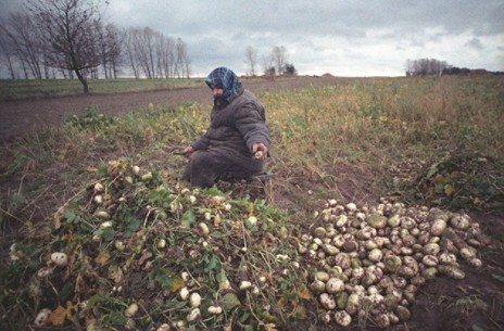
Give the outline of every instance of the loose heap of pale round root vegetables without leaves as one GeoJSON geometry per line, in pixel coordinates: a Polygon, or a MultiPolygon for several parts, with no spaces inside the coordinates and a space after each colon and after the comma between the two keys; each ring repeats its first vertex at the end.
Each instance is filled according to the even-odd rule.
{"type": "Polygon", "coordinates": [[[461,263],[480,267],[478,247],[489,244],[468,215],[426,206],[329,200],[314,216],[299,252],[320,320],[342,327],[355,316],[380,328],[408,320],[419,287],[437,275],[464,279],[461,263]]]}

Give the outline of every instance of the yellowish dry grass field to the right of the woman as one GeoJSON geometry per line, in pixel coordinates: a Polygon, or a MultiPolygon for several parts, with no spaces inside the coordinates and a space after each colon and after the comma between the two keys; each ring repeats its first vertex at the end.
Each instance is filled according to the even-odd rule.
{"type": "Polygon", "coordinates": [[[373,78],[264,93],[275,137],[272,167],[293,180],[320,181],[335,194],[341,170],[364,169],[380,182],[377,195],[389,190],[383,182],[401,180],[391,175],[404,162],[429,167],[451,151],[492,157],[502,168],[502,85],[495,77],[373,78]]]}

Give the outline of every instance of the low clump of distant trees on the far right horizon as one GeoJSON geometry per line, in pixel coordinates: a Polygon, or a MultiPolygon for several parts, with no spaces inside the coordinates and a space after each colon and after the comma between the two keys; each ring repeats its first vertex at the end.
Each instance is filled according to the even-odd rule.
{"type": "Polygon", "coordinates": [[[427,76],[427,75],[504,75],[503,72],[488,72],[486,69],[469,69],[466,67],[456,67],[436,59],[407,60],[406,76],[427,76]]]}

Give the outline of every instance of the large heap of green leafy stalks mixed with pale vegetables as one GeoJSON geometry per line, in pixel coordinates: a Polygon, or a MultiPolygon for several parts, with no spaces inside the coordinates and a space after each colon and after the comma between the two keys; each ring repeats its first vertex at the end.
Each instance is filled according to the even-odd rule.
{"type": "MultiPolygon", "coordinates": [[[[129,160],[96,177],[54,217],[30,278],[33,296],[45,298],[34,326],[105,328],[114,315],[126,330],[230,330],[240,316],[257,329],[277,322],[276,297],[304,284],[295,245],[282,240],[284,213],[272,206],[173,184],[129,160]],[[71,308],[54,295],[63,288],[75,290],[71,308]],[[102,297],[121,304],[101,309],[102,297]]],[[[13,263],[21,254],[12,245],[13,263]]]]}

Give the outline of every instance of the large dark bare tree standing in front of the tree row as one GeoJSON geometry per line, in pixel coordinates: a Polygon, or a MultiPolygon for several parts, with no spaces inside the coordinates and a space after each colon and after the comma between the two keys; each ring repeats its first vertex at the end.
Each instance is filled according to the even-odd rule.
{"type": "Polygon", "coordinates": [[[87,73],[100,64],[96,33],[101,21],[100,2],[28,0],[27,9],[36,18],[41,40],[50,47],[47,63],[74,72],[87,93],[87,73]]]}

